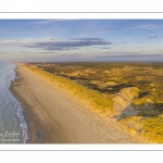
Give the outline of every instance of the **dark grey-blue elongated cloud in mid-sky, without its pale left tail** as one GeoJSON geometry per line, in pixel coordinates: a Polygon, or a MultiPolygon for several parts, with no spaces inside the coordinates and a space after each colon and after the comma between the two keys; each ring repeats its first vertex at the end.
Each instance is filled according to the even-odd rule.
{"type": "Polygon", "coordinates": [[[91,47],[91,46],[110,46],[112,42],[105,41],[101,38],[77,38],[77,39],[70,39],[70,40],[45,40],[45,41],[37,41],[30,45],[24,45],[28,48],[39,48],[43,50],[71,50],[71,49],[78,49],[82,47],[91,47]]]}

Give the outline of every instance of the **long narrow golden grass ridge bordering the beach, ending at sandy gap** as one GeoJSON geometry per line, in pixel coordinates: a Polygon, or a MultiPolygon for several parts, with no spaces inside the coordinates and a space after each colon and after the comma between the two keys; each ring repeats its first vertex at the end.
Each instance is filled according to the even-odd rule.
{"type": "Polygon", "coordinates": [[[100,93],[97,90],[89,89],[68,78],[53,75],[40,67],[28,64],[26,64],[25,66],[34,71],[35,73],[40,74],[45,78],[51,80],[54,85],[58,85],[59,87],[71,91],[74,96],[76,96],[84,102],[88,102],[93,108],[93,110],[101,113],[101,115],[113,112],[113,101],[109,95],[100,93]]]}

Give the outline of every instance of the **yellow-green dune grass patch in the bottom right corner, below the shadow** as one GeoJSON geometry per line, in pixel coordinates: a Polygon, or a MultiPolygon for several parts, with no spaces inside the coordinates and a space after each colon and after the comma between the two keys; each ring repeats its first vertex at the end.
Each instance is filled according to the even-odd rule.
{"type": "Polygon", "coordinates": [[[130,136],[143,138],[152,143],[163,143],[163,118],[161,116],[130,116],[120,121],[130,136]]]}

